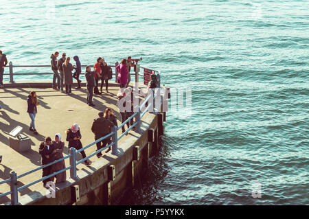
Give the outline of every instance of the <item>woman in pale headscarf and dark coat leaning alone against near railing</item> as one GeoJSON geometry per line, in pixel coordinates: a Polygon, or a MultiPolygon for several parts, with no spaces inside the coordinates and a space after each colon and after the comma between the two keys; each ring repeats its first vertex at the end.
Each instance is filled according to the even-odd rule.
{"type": "MultiPolygon", "coordinates": [[[[67,141],[69,141],[69,149],[71,147],[75,148],[76,150],[82,149],[82,141],[80,139],[82,138],[82,135],[80,134],[80,126],[78,124],[73,124],[71,128],[66,130],[67,133],[67,141]]],[[[80,152],[82,154],[82,159],[84,159],[86,156],[86,153],[84,150],[80,152]]],[[[85,165],[91,165],[91,161],[84,161],[85,165]]]]}

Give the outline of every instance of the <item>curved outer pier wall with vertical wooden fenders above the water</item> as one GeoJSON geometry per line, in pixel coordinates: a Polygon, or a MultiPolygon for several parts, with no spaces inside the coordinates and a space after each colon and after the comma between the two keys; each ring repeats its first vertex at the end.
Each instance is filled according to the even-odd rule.
{"type": "MultiPolygon", "coordinates": [[[[106,160],[96,160],[89,169],[78,170],[78,179],[67,180],[65,185],[57,187],[56,198],[47,198],[40,196],[31,200],[21,198],[22,205],[117,205],[119,200],[136,183],[140,183],[141,175],[147,171],[148,159],[159,150],[158,115],[148,114],[147,120],[150,122],[142,127],[141,135],[137,138],[126,138],[125,141],[119,141],[118,150],[121,151],[117,157],[110,155],[106,160]],[[149,130],[153,129],[156,133],[154,142],[148,142],[149,130]],[[133,140],[135,139],[135,140],[133,140]],[[135,146],[139,146],[139,160],[134,160],[136,154],[135,146]],[[149,150],[149,151],[148,151],[149,150]],[[111,165],[115,166],[115,179],[111,165]],[[76,200],[75,187],[79,187],[79,200],[76,200]]],[[[88,168],[87,168],[88,169],[88,168]]]]}

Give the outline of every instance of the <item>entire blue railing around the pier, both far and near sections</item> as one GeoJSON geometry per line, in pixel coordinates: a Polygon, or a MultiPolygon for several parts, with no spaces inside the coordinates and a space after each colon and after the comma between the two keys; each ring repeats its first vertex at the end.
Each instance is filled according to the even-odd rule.
{"type": "MultiPolygon", "coordinates": [[[[10,67],[10,71],[11,71],[12,67],[50,67],[50,65],[19,65],[19,66],[14,65],[14,66],[13,66],[13,65],[12,65],[12,62],[10,62],[10,66],[9,66],[9,67],[10,67]]],[[[82,67],[86,67],[86,65],[82,65],[82,67]]],[[[115,66],[109,66],[109,67],[115,67],[115,66]]],[[[141,68],[144,68],[144,67],[141,67],[141,68]]],[[[152,71],[155,71],[155,70],[152,70],[152,71]]],[[[156,72],[159,72],[159,71],[156,71],[156,72]]],[[[33,75],[33,74],[43,75],[43,74],[53,74],[53,73],[15,73],[15,74],[16,74],[16,75],[33,75]]],[[[114,73],[114,74],[115,74],[115,73],[114,73]]],[[[133,73],[133,74],[134,74],[134,73],[133,73]]],[[[115,75],[116,75],[116,74],[115,74],[115,75]]],[[[140,74],[136,74],[136,75],[137,75],[137,76],[142,76],[142,75],[140,75],[140,74]]],[[[136,76],[136,75],[135,75],[135,76],[136,76]]],[[[10,72],[10,76],[12,76],[12,72],[10,72]]],[[[153,89],[151,89],[151,90],[153,91],[153,89]]],[[[155,95],[153,95],[153,99],[155,99],[155,97],[157,96],[158,91],[159,91],[159,89],[157,89],[157,91],[155,92],[155,95]]],[[[22,189],[25,189],[25,188],[27,188],[27,187],[30,187],[30,186],[32,186],[32,185],[34,185],[34,184],[36,184],[36,183],[39,183],[39,182],[41,182],[41,181],[44,181],[45,179],[50,178],[50,177],[52,177],[52,176],[56,176],[56,174],[59,174],[59,173],[61,173],[61,172],[65,172],[65,171],[67,171],[67,170],[71,170],[71,171],[73,170],[73,172],[74,172],[74,171],[76,172],[76,165],[82,163],[83,161],[86,161],[86,160],[89,159],[90,157],[93,157],[95,154],[98,154],[98,153],[102,152],[103,150],[105,150],[106,148],[109,148],[109,147],[111,147],[111,146],[115,146],[116,152],[117,152],[117,141],[119,141],[119,139],[122,139],[122,137],[124,137],[124,135],[126,135],[126,133],[128,133],[128,131],[130,131],[132,128],[134,128],[134,127],[137,126],[137,132],[140,132],[141,118],[144,117],[144,115],[145,115],[146,112],[149,110],[150,106],[152,106],[152,104],[149,104],[149,105],[146,107],[146,109],[144,110],[143,113],[141,113],[141,109],[144,108],[146,102],[148,102],[148,101],[150,100],[150,97],[152,97],[152,95],[148,95],[148,97],[146,97],[146,99],[144,100],[144,102],[143,102],[140,106],[138,106],[138,108],[137,108],[137,109],[138,109],[138,112],[133,113],[133,115],[131,115],[130,117],[128,117],[128,119],[126,119],[126,121],[123,122],[119,127],[114,126],[114,128],[115,128],[114,131],[111,132],[111,133],[109,133],[108,135],[105,135],[104,137],[101,137],[100,139],[98,139],[98,140],[96,140],[96,141],[93,141],[93,142],[90,143],[89,145],[87,145],[87,146],[81,148],[80,150],[72,150],[72,151],[70,152],[69,155],[67,155],[67,156],[65,156],[65,157],[62,157],[61,159],[58,159],[58,160],[56,160],[56,161],[53,161],[52,163],[48,163],[48,164],[46,164],[46,165],[42,165],[42,166],[39,167],[39,168],[35,168],[34,170],[30,170],[29,172],[25,172],[25,173],[23,173],[23,174],[21,174],[21,175],[19,175],[19,176],[16,176],[16,173],[14,173],[15,175],[12,177],[12,174],[11,174],[11,178],[8,178],[8,179],[6,179],[6,180],[0,182],[0,185],[3,184],[3,183],[9,183],[9,182],[10,182],[10,184],[11,184],[11,191],[10,191],[10,192],[6,192],[6,193],[4,193],[4,194],[0,194],[0,198],[3,197],[3,196],[7,196],[7,195],[11,194],[11,195],[12,195],[12,197],[11,197],[12,205],[16,205],[16,203],[18,203],[17,192],[20,192],[22,189]],[[137,120],[137,121],[136,121],[132,126],[130,126],[125,132],[123,132],[122,135],[120,135],[119,137],[117,137],[117,130],[119,130],[120,128],[122,128],[123,126],[125,126],[125,125],[126,125],[128,122],[130,122],[130,120],[133,119],[134,117],[136,117],[135,120],[137,120]],[[105,146],[104,148],[101,148],[100,150],[97,150],[97,151],[93,152],[93,153],[90,154],[88,157],[85,157],[84,159],[81,159],[81,160],[78,161],[78,162],[76,162],[76,160],[74,160],[74,159],[76,159],[76,154],[77,154],[78,152],[81,152],[81,151],[83,151],[83,150],[85,150],[85,149],[87,149],[87,148],[93,146],[95,143],[98,143],[98,142],[102,141],[103,139],[106,139],[107,137],[111,137],[111,136],[114,136],[115,138],[113,137],[113,142],[110,143],[110,144],[108,144],[108,146],[105,146]],[[74,152],[75,152],[75,154],[74,154],[74,152]],[[72,153],[73,153],[73,154],[72,154],[72,153]],[[71,163],[71,161],[73,161],[73,164],[71,163],[71,164],[69,165],[69,167],[64,168],[64,169],[62,169],[62,170],[59,170],[58,172],[54,172],[54,173],[52,173],[52,174],[49,174],[48,176],[44,176],[44,177],[42,177],[42,178],[39,178],[38,180],[33,181],[33,182],[31,182],[31,183],[28,183],[27,185],[23,185],[23,186],[21,186],[21,187],[17,187],[16,184],[15,184],[15,185],[12,186],[12,183],[14,183],[14,181],[16,182],[16,179],[22,178],[23,176],[27,176],[27,175],[29,175],[29,174],[32,174],[33,172],[36,172],[36,171],[41,170],[41,169],[43,169],[43,168],[47,168],[47,167],[50,166],[50,165],[54,165],[55,163],[58,163],[58,162],[60,162],[60,161],[64,161],[65,159],[68,159],[68,158],[70,159],[70,163],[71,163]],[[72,166],[72,165],[73,165],[73,166],[72,166]],[[13,199],[14,199],[14,200],[13,200],[13,199]]],[[[74,148],[73,148],[73,149],[74,149],[74,148]]],[[[72,174],[72,173],[70,173],[70,174],[72,174]]],[[[72,176],[72,175],[71,175],[71,176],[72,176]]],[[[75,175],[73,174],[73,176],[76,176],[76,174],[75,174],[75,175]]],[[[72,177],[71,177],[71,178],[72,178],[72,177]]]]}

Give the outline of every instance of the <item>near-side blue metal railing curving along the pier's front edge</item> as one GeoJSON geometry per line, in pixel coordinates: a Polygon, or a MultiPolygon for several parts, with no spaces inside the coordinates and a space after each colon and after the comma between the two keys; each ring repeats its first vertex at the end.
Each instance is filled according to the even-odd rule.
{"type": "Polygon", "coordinates": [[[126,135],[126,133],[129,130],[131,130],[133,127],[135,127],[136,132],[141,134],[141,118],[144,117],[146,111],[148,111],[151,106],[154,106],[153,105],[153,101],[155,100],[155,97],[157,96],[157,94],[160,92],[160,89],[151,89],[150,91],[152,91],[152,92],[148,93],[148,96],[146,97],[144,102],[140,106],[136,106],[135,113],[133,113],[133,115],[131,115],[128,119],[126,119],[126,121],[123,122],[119,127],[113,126],[112,129],[111,129],[111,133],[109,133],[108,135],[106,135],[106,136],[104,136],[104,137],[94,141],[93,143],[90,143],[88,146],[85,146],[85,147],[81,148],[80,150],[76,150],[75,148],[70,148],[69,149],[69,155],[67,155],[66,157],[58,159],[58,160],[56,160],[56,161],[54,161],[52,163],[48,163],[46,165],[42,165],[39,168],[36,168],[34,170],[30,170],[29,172],[26,172],[26,173],[21,174],[19,176],[17,176],[16,172],[14,172],[14,171],[10,172],[10,178],[6,179],[5,181],[1,181],[0,182],[0,185],[3,184],[3,183],[10,183],[10,192],[5,192],[3,194],[0,194],[0,198],[3,197],[3,196],[11,195],[11,205],[19,205],[18,192],[20,192],[22,189],[30,187],[30,186],[32,186],[32,185],[34,185],[36,183],[44,181],[47,178],[55,176],[56,174],[59,174],[61,172],[65,172],[67,170],[70,170],[70,178],[77,179],[76,165],[86,161],[90,157],[93,157],[95,154],[98,154],[98,153],[102,152],[102,150],[105,150],[106,148],[109,148],[109,147],[112,147],[112,152],[111,152],[112,154],[117,154],[118,141],[120,139],[122,139],[122,137],[124,137],[124,135],[126,135]],[[152,101],[150,101],[151,97],[152,97],[152,101]],[[144,108],[144,106],[146,105],[147,102],[148,102],[148,106],[146,107],[144,112],[141,113],[141,109],[144,108]],[[130,122],[130,120],[133,119],[133,117],[135,117],[136,122],[132,126],[130,126],[130,128],[128,128],[125,132],[123,132],[122,135],[117,137],[117,130],[122,128],[122,126],[126,125],[128,122],[130,122]],[[103,139],[106,139],[108,137],[112,137],[112,143],[109,143],[108,146],[105,146],[104,148],[101,148],[100,150],[97,150],[96,152],[93,152],[88,157],[85,157],[84,159],[82,159],[80,161],[76,161],[76,154],[78,152],[81,152],[81,151],[83,151],[83,150],[93,146],[95,143],[98,143],[98,142],[100,142],[103,139]],[[54,172],[53,174],[49,174],[48,176],[45,176],[45,177],[40,178],[40,179],[38,179],[36,181],[33,181],[32,183],[28,183],[27,185],[23,185],[21,187],[17,187],[17,179],[22,178],[23,176],[27,176],[29,174],[32,174],[33,172],[36,172],[38,170],[42,170],[43,168],[47,168],[49,165],[54,165],[55,163],[58,163],[60,161],[68,159],[68,158],[70,159],[69,167],[64,168],[62,170],[59,170],[58,172],[54,172]]]}

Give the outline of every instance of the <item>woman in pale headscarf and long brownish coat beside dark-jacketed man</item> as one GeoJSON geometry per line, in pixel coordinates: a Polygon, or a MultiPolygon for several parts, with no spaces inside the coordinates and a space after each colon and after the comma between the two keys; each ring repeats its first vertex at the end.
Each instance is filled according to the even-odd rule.
{"type": "MultiPolygon", "coordinates": [[[[65,142],[61,141],[61,135],[58,133],[55,136],[55,140],[52,141],[53,145],[56,149],[56,154],[54,154],[55,160],[62,159],[63,158],[63,148],[65,148],[65,142]]],[[[59,161],[58,163],[54,163],[52,165],[52,172],[58,172],[60,170],[65,169],[65,161],[59,161]]],[[[52,176],[52,181],[54,181],[54,177],[56,177],[56,183],[62,183],[67,180],[67,174],[66,172],[60,172],[59,174],[56,174],[56,176],[52,176]]]]}

